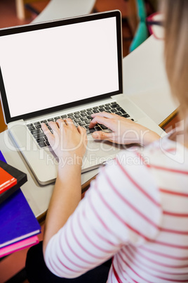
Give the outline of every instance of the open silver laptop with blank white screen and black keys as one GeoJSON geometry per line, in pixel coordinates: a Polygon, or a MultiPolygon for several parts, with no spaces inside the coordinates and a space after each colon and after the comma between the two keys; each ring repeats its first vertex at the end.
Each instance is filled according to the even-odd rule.
{"type": "Polygon", "coordinates": [[[163,134],[123,94],[119,11],[1,29],[0,68],[8,130],[39,184],[54,182],[58,168],[41,122],[69,117],[86,128],[82,172],[98,168],[121,150],[93,139],[93,131],[110,130],[104,125],[90,130],[92,113],[116,113],[163,134]]]}

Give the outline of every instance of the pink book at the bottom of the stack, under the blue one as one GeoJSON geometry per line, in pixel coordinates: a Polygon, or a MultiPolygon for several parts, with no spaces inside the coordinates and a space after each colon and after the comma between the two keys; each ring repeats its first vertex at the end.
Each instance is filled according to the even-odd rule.
{"type": "Polygon", "coordinates": [[[39,239],[37,236],[32,236],[9,246],[5,246],[4,248],[0,249],[0,258],[7,256],[9,253],[13,253],[14,251],[20,251],[36,244],[39,244],[39,239]]]}

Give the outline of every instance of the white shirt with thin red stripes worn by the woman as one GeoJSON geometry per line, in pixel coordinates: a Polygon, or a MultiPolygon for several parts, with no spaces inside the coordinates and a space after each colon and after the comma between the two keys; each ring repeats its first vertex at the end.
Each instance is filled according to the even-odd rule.
{"type": "Polygon", "coordinates": [[[111,282],[188,282],[188,150],[161,139],[100,170],[45,261],[79,277],[112,258],[111,282]]]}

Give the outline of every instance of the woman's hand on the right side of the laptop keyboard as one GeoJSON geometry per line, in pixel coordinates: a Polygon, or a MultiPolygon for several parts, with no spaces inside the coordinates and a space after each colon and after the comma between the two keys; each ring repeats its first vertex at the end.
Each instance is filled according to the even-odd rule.
{"type": "Polygon", "coordinates": [[[145,146],[160,138],[156,132],[147,129],[147,127],[114,113],[100,112],[91,116],[93,120],[90,122],[90,128],[99,123],[112,130],[112,132],[93,132],[94,139],[105,139],[116,144],[141,144],[145,146]]]}

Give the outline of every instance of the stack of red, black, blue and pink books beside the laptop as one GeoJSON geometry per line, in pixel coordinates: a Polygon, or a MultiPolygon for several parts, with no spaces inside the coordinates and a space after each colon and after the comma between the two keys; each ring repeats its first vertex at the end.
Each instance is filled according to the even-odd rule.
{"type": "Polygon", "coordinates": [[[20,189],[25,182],[27,175],[0,151],[0,258],[39,243],[41,227],[20,189]]]}

